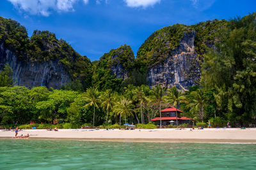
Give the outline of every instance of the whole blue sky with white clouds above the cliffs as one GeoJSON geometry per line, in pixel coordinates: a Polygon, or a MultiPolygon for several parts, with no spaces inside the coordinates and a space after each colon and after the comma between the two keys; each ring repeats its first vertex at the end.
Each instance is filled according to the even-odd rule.
{"type": "Polygon", "coordinates": [[[0,16],[29,36],[51,31],[90,60],[120,45],[136,52],[154,31],[173,24],[230,18],[256,11],[255,0],[0,0],[0,16]]]}

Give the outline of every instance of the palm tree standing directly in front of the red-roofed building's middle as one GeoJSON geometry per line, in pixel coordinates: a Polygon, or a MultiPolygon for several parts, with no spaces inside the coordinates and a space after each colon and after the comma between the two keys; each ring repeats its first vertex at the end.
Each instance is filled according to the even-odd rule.
{"type": "Polygon", "coordinates": [[[179,125],[178,123],[178,115],[177,115],[177,107],[179,106],[179,103],[184,101],[186,97],[184,96],[184,93],[181,91],[177,90],[177,87],[173,86],[171,89],[167,90],[166,96],[164,96],[164,100],[166,103],[172,103],[173,106],[175,106],[176,111],[176,124],[179,125]]]}

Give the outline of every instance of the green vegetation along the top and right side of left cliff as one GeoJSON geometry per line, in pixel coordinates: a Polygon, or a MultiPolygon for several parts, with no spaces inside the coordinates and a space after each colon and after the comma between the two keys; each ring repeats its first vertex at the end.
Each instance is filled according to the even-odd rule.
{"type": "Polygon", "coordinates": [[[19,60],[45,62],[58,60],[70,74],[72,81],[83,89],[92,85],[92,63],[81,56],[63,39],[49,31],[34,31],[28,38],[25,27],[14,20],[0,17],[0,44],[17,55],[19,60]]]}

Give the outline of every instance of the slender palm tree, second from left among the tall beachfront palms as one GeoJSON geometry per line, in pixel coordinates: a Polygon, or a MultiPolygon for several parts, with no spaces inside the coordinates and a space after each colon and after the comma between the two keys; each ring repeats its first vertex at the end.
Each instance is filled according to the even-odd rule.
{"type": "Polygon", "coordinates": [[[106,108],[106,111],[107,111],[107,117],[106,117],[106,122],[107,123],[108,123],[108,113],[109,113],[109,110],[113,106],[113,101],[114,101],[113,98],[114,98],[113,97],[113,92],[112,92],[111,89],[106,90],[100,96],[100,101],[101,101],[100,106],[102,106],[102,108],[106,108]]]}

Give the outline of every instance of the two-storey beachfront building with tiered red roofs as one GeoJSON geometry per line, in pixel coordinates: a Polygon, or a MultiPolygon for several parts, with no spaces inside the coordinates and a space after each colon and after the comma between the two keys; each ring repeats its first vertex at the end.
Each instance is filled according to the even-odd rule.
{"type": "MultiPolygon", "coordinates": [[[[170,125],[170,124],[177,124],[176,122],[176,108],[173,106],[170,106],[169,108],[166,108],[164,110],[161,110],[162,113],[162,125],[170,125]]],[[[177,109],[177,120],[179,125],[180,124],[193,124],[193,119],[188,117],[180,117],[180,113],[183,113],[183,111],[177,109]]],[[[152,122],[160,122],[160,117],[155,117],[152,120],[152,122]]]]}

